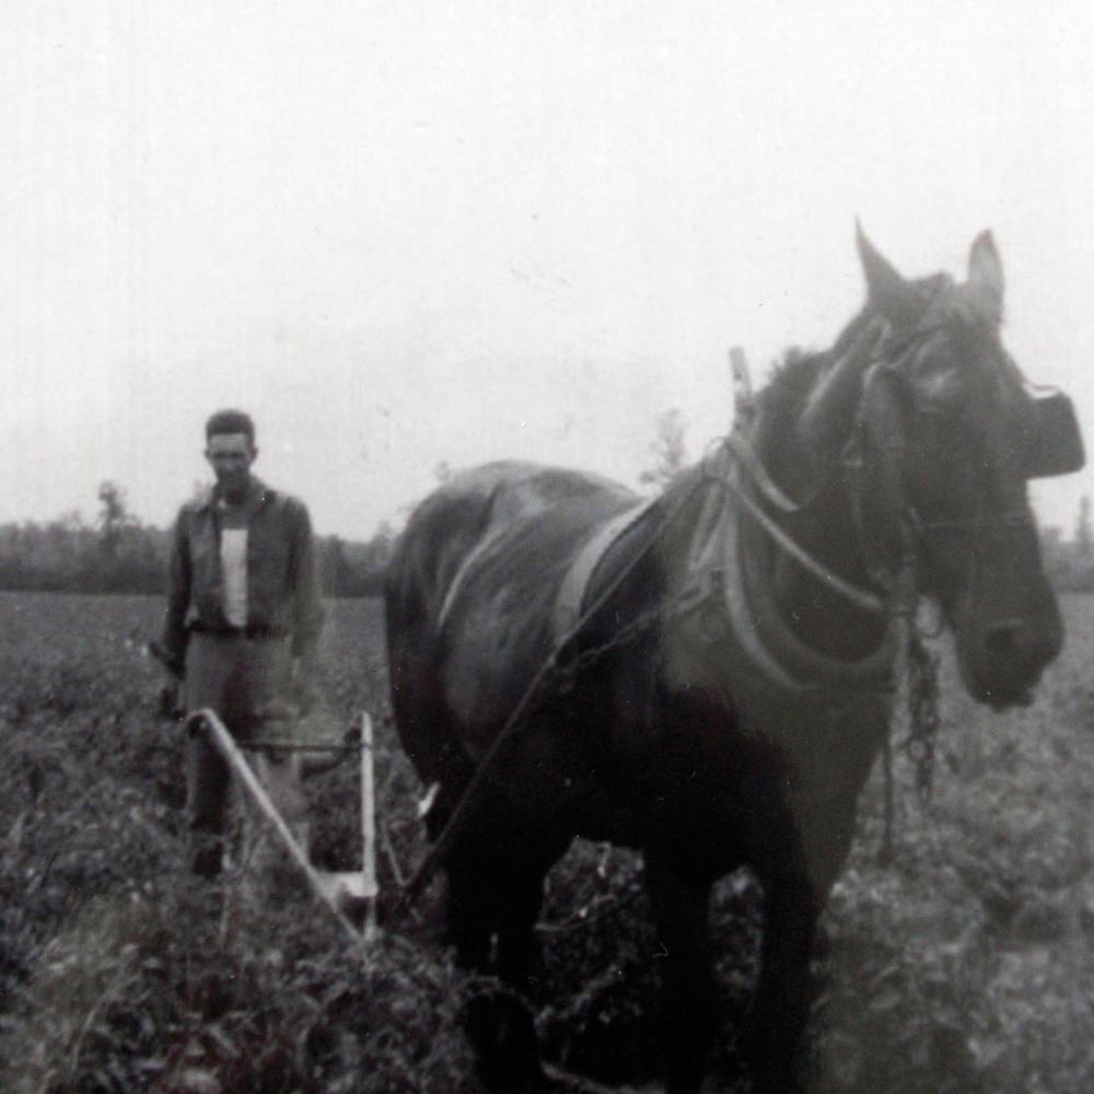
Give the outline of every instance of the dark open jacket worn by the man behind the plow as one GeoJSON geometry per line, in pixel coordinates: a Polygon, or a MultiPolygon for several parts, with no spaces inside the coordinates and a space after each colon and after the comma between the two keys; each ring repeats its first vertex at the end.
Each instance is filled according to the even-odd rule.
{"type": "MultiPolygon", "coordinates": [[[[246,511],[246,631],[287,636],[299,655],[314,647],[323,626],[307,509],[253,479],[246,511]]],[[[223,612],[220,524],[216,491],[187,502],[175,521],[162,648],[164,660],[179,673],[190,630],[236,632],[223,612]]]]}

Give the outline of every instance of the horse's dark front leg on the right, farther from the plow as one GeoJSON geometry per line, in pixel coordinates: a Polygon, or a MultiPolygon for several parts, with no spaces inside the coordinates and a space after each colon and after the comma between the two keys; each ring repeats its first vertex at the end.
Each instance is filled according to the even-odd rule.
{"type": "Polygon", "coordinates": [[[758,1094],[805,1089],[802,1038],[812,1003],[810,954],[821,912],[804,869],[757,871],[764,886],[764,943],[749,1031],[758,1094]]]}

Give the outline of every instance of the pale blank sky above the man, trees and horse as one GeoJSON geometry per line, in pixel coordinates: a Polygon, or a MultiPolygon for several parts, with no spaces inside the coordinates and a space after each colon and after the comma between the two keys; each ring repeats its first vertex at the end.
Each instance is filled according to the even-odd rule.
{"type": "Polygon", "coordinates": [[[222,406],[351,539],[442,463],[635,485],[665,410],[726,430],[730,346],[830,344],[856,218],[908,276],[990,228],[1094,438],[1092,106],[1089,0],[7,0],[0,522],[167,524],[222,406]]]}

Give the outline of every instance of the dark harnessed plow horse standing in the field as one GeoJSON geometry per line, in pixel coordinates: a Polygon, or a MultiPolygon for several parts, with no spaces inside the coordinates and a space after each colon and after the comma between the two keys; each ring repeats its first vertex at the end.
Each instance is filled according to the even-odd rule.
{"type": "MultiPolygon", "coordinates": [[[[811,943],[916,596],[994,708],[1026,703],[1062,641],[1026,482],[1076,469],[1081,439],[1000,341],[991,236],[963,284],[905,280],[861,233],[859,251],[866,303],[835,345],[791,354],[659,498],[491,464],[421,503],[388,569],[395,719],[437,784],[459,959],[528,993],[552,863],[575,835],[640,848],[675,1094],[699,1089],[715,1027],[711,886],[741,865],[765,898],[755,1082],[805,1082],[811,943]]],[[[468,1020],[481,1073],[539,1090],[531,1019],[501,1000],[468,1020]]]]}

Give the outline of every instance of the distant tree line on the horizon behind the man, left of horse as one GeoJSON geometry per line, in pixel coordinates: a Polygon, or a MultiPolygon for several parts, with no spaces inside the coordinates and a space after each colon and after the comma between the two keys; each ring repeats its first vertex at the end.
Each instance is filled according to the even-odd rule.
{"type": "MultiPolygon", "coordinates": [[[[382,524],[364,543],[317,536],[328,596],[377,596],[394,533],[382,524]]],[[[162,593],[171,533],[129,512],[116,482],[98,488],[92,523],[78,512],[54,521],[0,525],[0,589],[69,593],[162,593]]]]}

